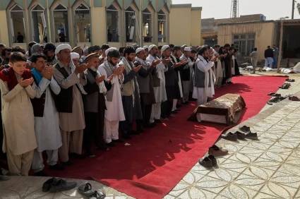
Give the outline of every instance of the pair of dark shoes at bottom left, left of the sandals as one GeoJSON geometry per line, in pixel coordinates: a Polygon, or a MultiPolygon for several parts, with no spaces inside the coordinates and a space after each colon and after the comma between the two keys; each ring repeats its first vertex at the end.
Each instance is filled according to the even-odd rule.
{"type": "Polygon", "coordinates": [[[56,193],[60,191],[67,191],[70,189],[73,189],[77,186],[76,182],[68,182],[63,179],[48,179],[43,183],[42,191],[43,192],[50,192],[50,193],[56,193]]]}

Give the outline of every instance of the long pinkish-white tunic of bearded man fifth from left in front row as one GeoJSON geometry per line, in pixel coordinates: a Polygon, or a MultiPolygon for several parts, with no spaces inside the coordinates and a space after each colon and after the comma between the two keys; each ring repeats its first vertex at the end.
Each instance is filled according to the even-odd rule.
{"type": "MultiPolygon", "coordinates": [[[[107,80],[107,71],[103,66],[98,68],[98,71],[102,76],[105,76],[105,80],[107,80]]],[[[123,79],[123,75],[121,79],[123,79]]],[[[106,100],[107,110],[105,111],[105,119],[108,121],[125,121],[123,103],[122,103],[122,95],[121,95],[121,85],[119,82],[119,77],[114,76],[112,78],[112,89],[114,89],[112,95],[112,102],[108,102],[106,100]]]]}

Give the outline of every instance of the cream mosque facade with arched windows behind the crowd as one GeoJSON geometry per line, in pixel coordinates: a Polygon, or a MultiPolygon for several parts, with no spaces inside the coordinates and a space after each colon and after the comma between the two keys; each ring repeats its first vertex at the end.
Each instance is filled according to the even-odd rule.
{"type": "Polygon", "coordinates": [[[66,42],[71,46],[108,43],[200,44],[201,8],[172,5],[171,0],[1,0],[0,42],[26,47],[28,42],[66,42]],[[196,24],[178,35],[176,11],[196,24]],[[176,18],[176,20],[174,20],[176,18]]]}

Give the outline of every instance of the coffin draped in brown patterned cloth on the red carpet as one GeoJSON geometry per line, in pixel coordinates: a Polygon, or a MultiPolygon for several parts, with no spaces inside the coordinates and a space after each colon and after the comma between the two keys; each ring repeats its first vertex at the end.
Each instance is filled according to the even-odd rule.
{"type": "Polygon", "coordinates": [[[209,121],[232,125],[239,121],[241,111],[246,107],[241,95],[226,94],[198,106],[189,120],[209,121]]]}

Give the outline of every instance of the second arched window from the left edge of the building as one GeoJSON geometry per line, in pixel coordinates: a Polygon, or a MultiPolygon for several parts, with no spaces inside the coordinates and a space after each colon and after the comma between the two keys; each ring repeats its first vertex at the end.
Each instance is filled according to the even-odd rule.
{"type": "Polygon", "coordinates": [[[33,41],[38,43],[48,42],[48,37],[46,34],[47,23],[44,14],[44,8],[42,8],[42,6],[37,4],[31,10],[31,17],[32,17],[33,41]]]}

